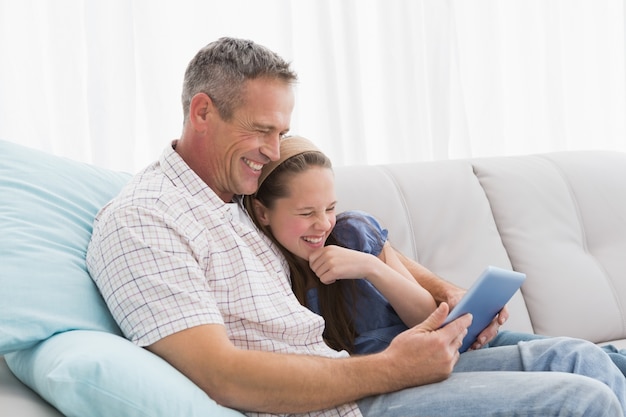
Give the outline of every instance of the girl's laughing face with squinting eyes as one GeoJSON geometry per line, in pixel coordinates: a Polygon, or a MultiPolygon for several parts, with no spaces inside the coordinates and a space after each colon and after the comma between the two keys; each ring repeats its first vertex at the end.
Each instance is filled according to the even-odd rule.
{"type": "Polygon", "coordinates": [[[308,260],[335,227],[334,174],[329,168],[311,167],[292,175],[287,188],[288,197],[276,200],[271,209],[255,200],[255,213],[281,245],[308,260]]]}

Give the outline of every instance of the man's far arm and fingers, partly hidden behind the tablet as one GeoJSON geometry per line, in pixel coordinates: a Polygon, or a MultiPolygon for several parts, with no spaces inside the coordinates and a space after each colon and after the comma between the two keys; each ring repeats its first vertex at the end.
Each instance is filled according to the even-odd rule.
{"type": "MultiPolygon", "coordinates": [[[[450,308],[453,308],[467,292],[463,288],[438,277],[428,268],[417,263],[413,259],[408,258],[397,249],[395,251],[400,258],[400,261],[409,270],[409,272],[411,272],[411,275],[413,275],[415,280],[433,295],[437,303],[446,302],[450,308]]],[[[509,311],[505,306],[502,310],[500,310],[491,324],[478,335],[476,343],[474,343],[470,349],[480,349],[491,339],[496,337],[498,329],[508,320],[508,318],[509,311]]]]}

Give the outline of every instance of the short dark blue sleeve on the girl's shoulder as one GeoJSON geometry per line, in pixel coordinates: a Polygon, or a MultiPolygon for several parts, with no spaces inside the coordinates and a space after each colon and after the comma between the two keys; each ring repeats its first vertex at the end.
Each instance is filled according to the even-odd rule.
{"type": "Polygon", "coordinates": [[[341,246],[378,256],[387,241],[387,229],[374,216],[350,210],[337,215],[333,235],[341,246]]]}

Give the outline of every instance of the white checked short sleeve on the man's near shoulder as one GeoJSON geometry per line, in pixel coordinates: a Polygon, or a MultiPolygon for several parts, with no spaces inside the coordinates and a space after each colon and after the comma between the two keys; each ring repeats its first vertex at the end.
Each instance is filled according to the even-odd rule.
{"type": "Polygon", "coordinates": [[[194,236],[191,222],[177,220],[130,207],[94,230],[90,273],[124,335],[140,346],[197,325],[223,324],[194,250],[202,239],[184,239],[194,236]]]}

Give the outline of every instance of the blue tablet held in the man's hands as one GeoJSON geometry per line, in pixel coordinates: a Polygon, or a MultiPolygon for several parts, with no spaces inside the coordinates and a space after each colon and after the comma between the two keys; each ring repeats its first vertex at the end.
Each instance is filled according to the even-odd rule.
{"type": "Polygon", "coordinates": [[[445,326],[464,314],[472,314],[472,324],[467,329],[467,335],[463,339],[463,345],[459,352],[463,353],[469,349],[480,332],[491,323],[525,279],[526,274],[497,266],[488,266],[485,269],[461,301],[448,314],[443,324],[445,326]]]}

